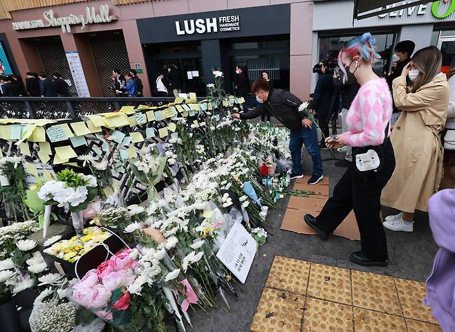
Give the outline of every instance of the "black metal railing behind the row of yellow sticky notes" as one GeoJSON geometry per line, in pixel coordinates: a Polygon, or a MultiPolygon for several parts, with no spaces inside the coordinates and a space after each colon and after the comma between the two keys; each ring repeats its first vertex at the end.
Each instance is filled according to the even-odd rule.
{"type": "MultiPolygon", "coordinates": [[[[198,100],[207,99],[199,97],[198,100]]],[[[158,98],[77,98],[77,97],[0,97],[0,118],[68,119],[118,111],[123,106],[160,106],[174,97],[158,98]]]]}

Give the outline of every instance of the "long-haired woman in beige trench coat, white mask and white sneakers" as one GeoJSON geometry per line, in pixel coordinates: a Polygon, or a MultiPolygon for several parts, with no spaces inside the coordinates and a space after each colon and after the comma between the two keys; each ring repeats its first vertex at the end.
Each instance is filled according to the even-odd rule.
{"type": "Polygon", "coordinates": [[[428,211],[428,199],[438,189],[443,169],[443,130],[449,104],[449,84],[440,72],[440,50],[418,50],[393,80],[393,99],[402,111],[391,136],[396,169],[382,192],[382,205],[399,210],[384,227],[412,232],[414,211],[428,211]],[[408,80],[409,82],[408,83],[408,80]]]}

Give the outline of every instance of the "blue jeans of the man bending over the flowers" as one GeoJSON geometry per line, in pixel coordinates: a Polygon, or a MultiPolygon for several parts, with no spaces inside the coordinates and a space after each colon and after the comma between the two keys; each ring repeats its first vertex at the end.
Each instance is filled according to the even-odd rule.
{"type": "Polygon", "coordinates": [[[322,176],[322,158],[319,142],[317,141],[316,124],[313,124],[311,129],[301,127],[290,131],[289,149],[290,156],[293,158],[293,172],[295,174],[303,173],[303,169],[301,169],[301,147],[304,144],[308,154],[313,159],[313,175],[322,176]]]}

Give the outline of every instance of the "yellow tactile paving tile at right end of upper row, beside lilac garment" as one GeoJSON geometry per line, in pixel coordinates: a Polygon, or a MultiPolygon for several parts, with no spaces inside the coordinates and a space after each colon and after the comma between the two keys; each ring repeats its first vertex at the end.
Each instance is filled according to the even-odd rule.
{"type": "Polygon", "coordinates": [[[431,308],[422,303],[425,295],[427,295],[427,289],[423,282],[395,278],[395,283],[403,315],[406,318],[425,320],[425,322],[438,322],[431,315],[431,308]]]}

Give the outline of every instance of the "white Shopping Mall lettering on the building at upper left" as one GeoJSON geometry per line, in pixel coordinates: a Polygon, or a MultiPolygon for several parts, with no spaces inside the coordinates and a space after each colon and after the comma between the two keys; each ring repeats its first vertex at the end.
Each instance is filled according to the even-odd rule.
{"type": "Polygon", "coordinates": [[[44,19],[32,19],[31,21],[12,22],[14,30],[26,30],[37,28],[49,28],[59,26],[63,33],[71,33],[71,26],[80,25],[84,30],[89,24],[102,24],[115,21],[117,17],[109,15],[109,5],[101,5],[100,11],[96,12],[95,7],[86,7],[85,15],[70,14],[64,17],[55,17],[52,9],[43,12],[44,19]]]}

